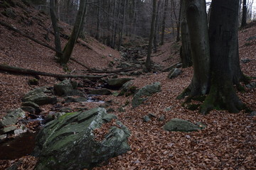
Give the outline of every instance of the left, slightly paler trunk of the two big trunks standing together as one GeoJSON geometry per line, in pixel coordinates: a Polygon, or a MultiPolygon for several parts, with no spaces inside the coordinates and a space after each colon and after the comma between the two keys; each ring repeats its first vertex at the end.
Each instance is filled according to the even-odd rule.
{"type": "Polygon", "coordinates": [[[206,1],[185,1],[188,32],[193,59],[190,96],[208,93],[210,81],[210,49],[206,18],[206,1]]]}

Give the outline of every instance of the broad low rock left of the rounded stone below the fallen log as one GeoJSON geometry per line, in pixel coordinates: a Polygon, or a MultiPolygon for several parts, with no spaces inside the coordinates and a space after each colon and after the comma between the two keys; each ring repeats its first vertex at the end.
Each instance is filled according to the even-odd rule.
{"type": "Polygon", "coordinates": [[[31,101],[33,103],[41,105],[46,104],[55,104],[57,103],[57,98],[55,96],[48,96],[47,94],[50,94],[51,91],[48,89],[48,87],[40,87],[37,89],[33,89],[32,91],[29,91],[21,101],[31,101]]]}

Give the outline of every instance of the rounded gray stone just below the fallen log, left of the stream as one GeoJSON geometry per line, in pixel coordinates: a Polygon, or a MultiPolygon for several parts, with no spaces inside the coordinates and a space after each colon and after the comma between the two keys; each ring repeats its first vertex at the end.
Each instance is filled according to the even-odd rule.
{"type": "Polygon", "coordinates": [[[53,89],[58,96],[68,96],[70,91],[73,91],[73,86],[70,80],[65,79],[58,84],[54,84],[53,89]]]}

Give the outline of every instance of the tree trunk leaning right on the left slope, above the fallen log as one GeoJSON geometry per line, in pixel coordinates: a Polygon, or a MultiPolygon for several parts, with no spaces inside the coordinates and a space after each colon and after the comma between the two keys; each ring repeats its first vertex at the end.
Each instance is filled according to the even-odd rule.
{"type": "Polygon", "coordinates": [[[68,40],[68,43],[65,46],[65,49],[63,51],[63,57],[60,58],[60,64],[67,64],[68,60],[70,60],[70,57],[73,52],[73,48],[75,46],[75,42],[78,39],[80,27],[82,26],[82,23],[84,21],[83,18],[84,18],[85,9],[86,9],[86,1],[80,1],[78,14],[75,18],[75,25],[70,35],[70,39],[68,40]]]}

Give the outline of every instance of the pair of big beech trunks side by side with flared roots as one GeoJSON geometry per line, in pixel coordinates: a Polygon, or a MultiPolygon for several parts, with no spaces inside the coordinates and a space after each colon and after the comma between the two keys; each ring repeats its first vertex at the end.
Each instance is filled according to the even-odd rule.
{"type": "Polygon", "coordinates": [[[183,94],[187,93],[190,98],[208,94],[201,106],[203,114],[213,108],[238,113],[244,105],[235,93],[233,84],[239,86],[239,82],[245,80],[238,55],[239,1],[212,1],[209,36],[206,1],[184,1],[194,73],[191,85],[183,94]]]}

